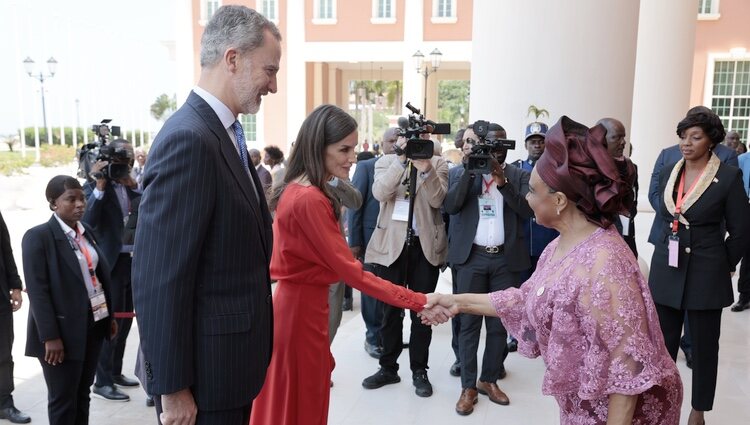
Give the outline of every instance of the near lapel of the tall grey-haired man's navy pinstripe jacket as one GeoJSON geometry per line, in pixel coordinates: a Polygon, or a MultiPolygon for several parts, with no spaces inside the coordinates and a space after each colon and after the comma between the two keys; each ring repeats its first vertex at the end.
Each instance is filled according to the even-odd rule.
{"type": "MultiPolygon", "coordinates": [[[[234,179],[237,181],[237,185],[240,187],[240,190],[242,191],[242,194],[244,195],[247,202],[250,204],[250,209],[253,211],[253,216],[255,217],[255,222],[258,224],[258,228],[260,230],[261,239],[263,241],[263,247],[265,249],[266,247],[266,235],[265,235],[265,227],[266,227],[266,220],[264,219],[263,214],[261,213],[261,206],[259,205],[258,199],[262,199],[261,203],[265,205],[265,199],[261,198],[261,194],[263,193],[262,189],[258,190],[258,197],[255,196],[255,194],[252,192],[251,184],[255,184],[256,188],[257,186],[257,180],[258,175],[252,170],[253,167],[250,167],[250,173],[253,176],[253,179],[255,182],[250,181],[250,177],[247,175],[247,172],[244,170],[244,166],[242,164],[242,160],[240,159],[240,156],[237,154],[237,149],[234,147],[234,143],[232,143],[232,139],[229,138],[229,134],[227,134],[227,130],[224,128],[224,126],[221,124],[221,120],[219,120],[219,117],[216,115],[216,112],[214,112],[213,109],[211,109],[211,106],[209,106],[208,103],[206,103],[203,98],[195,94],[195,92],[191,92],[190,96],[188,96],[187,102],[195,109],[195,111],[200,115],[200,117],[205,121],[208,128],[211,130],[211,132],[216,135],[216,137],[219,139],[219,150],[221,151],[221,155],[224,157],[224,162],[226,163],[227,168],[229,168],[229,171],[231,172],[234,179]]],[[[267,208],[267,207],[264,207],[267,208]]],[[[266,252],[266,255],[269,255],[268,252],[266,252]]]]}

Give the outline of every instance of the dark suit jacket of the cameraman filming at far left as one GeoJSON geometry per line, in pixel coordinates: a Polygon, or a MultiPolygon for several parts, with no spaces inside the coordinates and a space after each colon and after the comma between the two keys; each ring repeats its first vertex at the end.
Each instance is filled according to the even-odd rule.
{"type": "MultiPolygon", "coordinates": [[[[94,196],[95,188],[95,182],[88,182],[83,186],[83,193],[86,197],[86,212],[81,221],[94,229],[100,248],[107,257],[107,263],[110,267],[114,267],[122,249],[122,237],[125,233],[124,217],[112,183],[107,182],[101,200],[94,196]]],[[[130,188],[126,190],[130,199],[129,213],[137,216],[141,194],[130,188]]]]}

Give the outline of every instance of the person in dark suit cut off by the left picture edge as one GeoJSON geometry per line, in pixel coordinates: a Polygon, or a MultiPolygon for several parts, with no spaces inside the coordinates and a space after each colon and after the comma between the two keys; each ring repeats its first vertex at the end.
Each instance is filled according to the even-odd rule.
{"type": "Polygon", "coordinates": [[[13,313],[21,308],[21,277],[10,246],[10,234],[0,214],[0,419],[14,424],[31,422],[13,403],[13,313]]]}

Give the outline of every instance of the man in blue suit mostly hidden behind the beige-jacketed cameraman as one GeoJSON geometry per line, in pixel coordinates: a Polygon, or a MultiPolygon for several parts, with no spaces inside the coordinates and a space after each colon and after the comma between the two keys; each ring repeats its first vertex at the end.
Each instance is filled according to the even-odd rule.
{"type": "MultiPolygon", "coordinates": [[[[391,127],[383,133],[383,155],[393,153],[393,144],[398,139],[398,128],[391,127]]],[[[354,257],[364,260],[367,244],[370,243],[372,232],[378,223],[380,202],[372,194],[372,184],[375,180],[375,162],[378,158],[357,162],[354,170],[352,185],[362,194],[362,207],[348,209],[349,247],[354,257]]],[[[367,271],[374,271],[370,264],[364,264],[367,271]]],[[[362,320],[365,322],[365,351],[370,357],[379,359],[383,353],[383,341],[380,337],[380,327],[383,323],[383,303],[364,292],[362,293],[362,320]]]]}

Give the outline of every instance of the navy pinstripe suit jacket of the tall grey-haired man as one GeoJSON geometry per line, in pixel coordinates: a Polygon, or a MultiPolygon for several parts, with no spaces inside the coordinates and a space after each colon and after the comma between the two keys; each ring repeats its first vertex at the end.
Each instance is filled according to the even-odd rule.
{"type": "Polygon", "coordinates": [[[156,136],[143,178],[133,254],[139,378],[154,395],[190,387],[200,410],[250,403],[271,358],[273,233],[249,170],[254,182],[219,117],[190,93],[156,136]]]}

